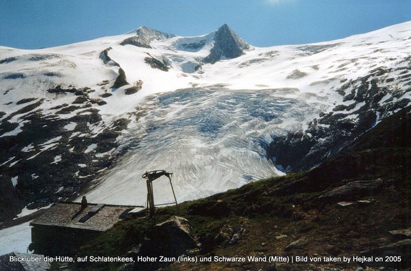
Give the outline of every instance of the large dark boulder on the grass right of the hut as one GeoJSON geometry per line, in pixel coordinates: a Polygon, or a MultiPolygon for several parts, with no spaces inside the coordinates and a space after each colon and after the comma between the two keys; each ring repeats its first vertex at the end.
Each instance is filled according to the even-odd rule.
{"type": "MultiPolygon", "coordinates": [[[[186,218],[172,216],[169,220],[156,224],[149,232],[144,242],[141,244],[138,256],[149,257],[179,257],[186,253],[187,250],[197,248],[197,243],[190,236],[191,227],[186,218]]],[[[160,266],[167,266],[169,263],[155,262],[160,266]]],[[[144,264],[136,262],[139,269],[147,268],[144,264]]],[[[153,268],[154,266],[151,266],[153,268]]]]}

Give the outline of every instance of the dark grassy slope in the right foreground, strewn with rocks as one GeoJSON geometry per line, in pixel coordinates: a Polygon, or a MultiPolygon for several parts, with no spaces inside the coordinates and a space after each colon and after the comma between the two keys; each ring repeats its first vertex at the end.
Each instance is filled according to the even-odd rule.
{"type": "MultiPolygon", "coordinates": [[[[172,215],[190,221],[193,234],[203,244],[204,255],[333,255],[353,256],[395,239],[388,231],[411,226],[411,116],[410,107],[386,118],[337,157],[318,168],[286,177],[265,179],[199,201],[158,209],[153,218],[132,218],[116,224],[79,251],[79,255],[126,255],[147,230],[172,215]],[[325,190],[350,181],[382,178],[389,181],[377,192],[349,198],[354,204],[340,207],[322,202],[325,190]],[[371,203],[358,203],[366,199],[371,203]],[[221,231],[230,237],[245,229],[239,242],[214,242],[221,231]],[[277,240],[285,234],[288,237],[277,240]],[[284,250],[290,242],[308,240],[300,248],[284,250]]],[[[316,267],[333,265],[324,263],[316,267]]],[[[356,270],[358,265],[334,265],[356,270]]],[[[110,266],[116,270],[118,266],[110,266]]],[[[84,266],[106,270],[107,265],[84,266]]],[[[182,263],[169,270],[302,270],[298,266],[268,263],[182,263]]]]}

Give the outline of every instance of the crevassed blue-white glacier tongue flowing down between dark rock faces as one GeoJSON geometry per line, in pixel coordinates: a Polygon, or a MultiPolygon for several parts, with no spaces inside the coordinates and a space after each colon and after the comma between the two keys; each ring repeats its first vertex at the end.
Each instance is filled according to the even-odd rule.
{"type": "MultiPolygon", "coordinates": [[[[90,201],[144,203],[142,172],[174,172],[178,201],[284,175],[266,157],[272,137],[301,129],[319,109],[296,89],[229,90],[190,88],[149,96],[136,127],[121,140],[121,163],[87,194],[90,201]]],[[[164,179],[166,181],[166,179],[164,179]]],[[[164,181],[153,183],[159,203],[172,201],[164,181]],[[164,188],[165,186],[165,188],[164,188]]]]}

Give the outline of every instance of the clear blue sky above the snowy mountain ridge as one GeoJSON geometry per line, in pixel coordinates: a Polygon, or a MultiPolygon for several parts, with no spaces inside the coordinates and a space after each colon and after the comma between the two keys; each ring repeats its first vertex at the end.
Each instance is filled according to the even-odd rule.
{"type": "Polygon", "coordinates": [[[254,46],[344,38],[411,20],[408,0],[0,0],[0,45],[36,49],[142,25],[196,36],[224,23],[254,46]]]}

